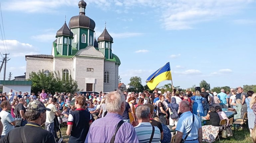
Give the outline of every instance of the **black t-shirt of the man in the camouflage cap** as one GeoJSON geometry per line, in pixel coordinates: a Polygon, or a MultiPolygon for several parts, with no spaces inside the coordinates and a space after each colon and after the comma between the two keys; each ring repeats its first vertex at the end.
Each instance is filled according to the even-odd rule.
{"type": "Polygon", "coordinates": [[[28,143],[55,143],[55,138],[51,132],[32,122],[29,122],[25,126],[10,130],[10,132],[0,140],[0,143],[21,143],[21,129],[23,128],[28,143]]]}

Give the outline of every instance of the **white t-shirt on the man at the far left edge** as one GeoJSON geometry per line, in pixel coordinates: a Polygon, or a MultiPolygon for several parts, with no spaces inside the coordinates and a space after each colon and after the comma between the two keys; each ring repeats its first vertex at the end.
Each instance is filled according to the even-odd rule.
{"type": "Polygon", "coordinates": [[[2,135],[6,135],[10,130],[14,129],[14,125],[11,122],[15,121],[12,115],[6,111],[0,112],[1,122],[3,124],[2,135]]]}

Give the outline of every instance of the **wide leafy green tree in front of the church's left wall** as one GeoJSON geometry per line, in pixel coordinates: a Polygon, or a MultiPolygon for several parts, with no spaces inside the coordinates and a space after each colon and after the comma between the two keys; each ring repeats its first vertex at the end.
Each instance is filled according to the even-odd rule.
{"type": "Polygon", "coordinates": [[[31,72],[29,74],[28,81],[32,81],[31,91],[37,93],[42,89],[46,92],[54,93],[59,92],[71,92],[79,91],[77,82],[74,81],[71,76],[67,78],[63,77],[59,71],[50,72],[48,75],[44,74],[44,70],[36,72],[31,72]]]}

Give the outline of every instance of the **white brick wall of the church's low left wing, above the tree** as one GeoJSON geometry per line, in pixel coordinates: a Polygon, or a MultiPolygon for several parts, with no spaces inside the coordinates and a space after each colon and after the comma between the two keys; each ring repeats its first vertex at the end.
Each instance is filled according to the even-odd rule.
{"type": "Polygon", "coordinates": [[[37,57],[27,57],[27,68],[26,68],[26,79],[29,78],[29,74],[34,71],[39,70],[49,70],[53,71],[53,59],[52,58],[37,58],[37,57]]]}

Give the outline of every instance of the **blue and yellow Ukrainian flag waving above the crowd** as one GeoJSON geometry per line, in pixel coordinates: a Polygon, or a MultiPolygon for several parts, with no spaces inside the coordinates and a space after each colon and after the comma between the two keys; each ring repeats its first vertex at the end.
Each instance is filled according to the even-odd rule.
{"type": "Polygon", "coordinates": [[[149,89],[153,90],[157,85],[165,80],[172,80],[170,62],[155,71],[151,76],[148,77],[146,83],[149,89]]]}

